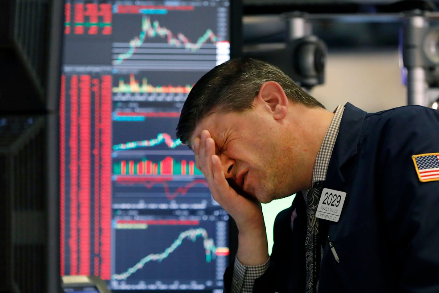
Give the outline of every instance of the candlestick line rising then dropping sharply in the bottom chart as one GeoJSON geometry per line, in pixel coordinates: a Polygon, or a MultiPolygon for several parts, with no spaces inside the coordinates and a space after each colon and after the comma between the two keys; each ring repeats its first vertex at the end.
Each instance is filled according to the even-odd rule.
{"type": "Polygon", "coordinates": [[[203,246],[205,248],[206,253],[206,262],[210,262],[212,258],[216,257],[216,247],[213,242],[213,239],[209,238],[207,235],[207,231],[203,228],[190,229],[184,232],[181,232],[177,239],[172,243],[171,246],[166,248],[162,253],[151,253],[146,257],[142,258],[137,264],[133,267],[129,268],[127,271],[122,274],[114,274],[112,275],[113,280],[126,280],[130,275],[135,273],[136,271],[143,268],[143,266],[150,262],[151,260],[161,261],[169,256],[169,254],[173,253],[177,247],[181,245],[185,238],[191,239],[192,241],[197,240],[197,238],[203,238],[203,246]]]}

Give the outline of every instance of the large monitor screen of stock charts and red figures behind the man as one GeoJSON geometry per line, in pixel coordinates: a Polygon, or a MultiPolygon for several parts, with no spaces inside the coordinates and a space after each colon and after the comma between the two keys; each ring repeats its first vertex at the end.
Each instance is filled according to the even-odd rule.
{"type": "Polygon", "coordinates": [[[194,83],[230,58],[233,5],[65,2],[61,275],[113,290],[222,288],[229,217],[175,129],[194,83]]]}

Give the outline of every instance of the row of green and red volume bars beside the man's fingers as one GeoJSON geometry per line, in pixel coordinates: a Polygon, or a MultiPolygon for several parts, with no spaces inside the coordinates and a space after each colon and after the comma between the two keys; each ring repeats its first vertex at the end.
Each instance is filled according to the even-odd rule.
{"type": "Polygon", "coordinates": [[[113,173],[116,175],[202,175],[194,165],[194,161],[179,162],[171,157],[158,162],[146,158],[140,162],[122,160],[113,164],[113,173]]]}

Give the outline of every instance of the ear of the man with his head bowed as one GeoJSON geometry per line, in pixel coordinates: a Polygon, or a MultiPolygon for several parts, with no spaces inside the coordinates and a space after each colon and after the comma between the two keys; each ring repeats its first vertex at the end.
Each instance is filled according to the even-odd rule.
{"type": "Polygon", "coordinates": [[[283,119],[287,115],[288,98],[281,85],[275,81],[267,81],[259,88],[255,103],[262,105],[274,119],[283,119]]]}

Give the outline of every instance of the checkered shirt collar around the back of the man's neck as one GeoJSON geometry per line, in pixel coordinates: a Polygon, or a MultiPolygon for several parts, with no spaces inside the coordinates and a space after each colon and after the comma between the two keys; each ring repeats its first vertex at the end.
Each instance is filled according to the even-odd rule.
{"type": "Polygon", "coordinates": [[[335,140],[337,139],[344,110],[345,107],[343,105],[338,105],[337,109],[334,111],[334,118],[332,118],[331,124],[323,138],[320,150],[317,153],[316,164],[314,165],[313,170],[313,184],[317,181],[325,181],[326,179],[329,159],[331,159],[332,149],[334,148],[335,140]]]}

